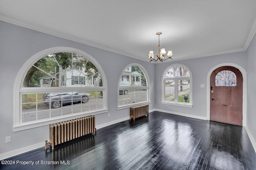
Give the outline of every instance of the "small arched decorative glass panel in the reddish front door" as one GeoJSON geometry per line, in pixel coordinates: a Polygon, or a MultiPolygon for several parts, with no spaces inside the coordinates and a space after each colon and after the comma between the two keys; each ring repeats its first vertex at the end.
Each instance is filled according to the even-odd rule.
{"type": "Polygon", "coordinates": [[[215,86],[236,86],[236,74],[230,70],[222,70],[215,76],[215,86]]]}

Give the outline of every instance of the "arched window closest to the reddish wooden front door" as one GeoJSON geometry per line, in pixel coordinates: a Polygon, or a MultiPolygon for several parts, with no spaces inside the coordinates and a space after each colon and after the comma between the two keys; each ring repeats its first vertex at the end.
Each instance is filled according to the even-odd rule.
{"type": "Polygon", "coordinates": [[[192,107],[192,74],[182,64],[174,64],[163,74],[162,102],[192,107]]]}

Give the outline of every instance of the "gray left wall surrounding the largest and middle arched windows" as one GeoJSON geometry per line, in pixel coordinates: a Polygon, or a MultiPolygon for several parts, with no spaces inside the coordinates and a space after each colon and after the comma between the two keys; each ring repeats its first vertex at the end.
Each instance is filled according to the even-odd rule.
{"type": "MultiPolygon", "coordinates": [[[[13,132],[13,90],[15,78],[22,65],[34,54],[50,47],[82,50],[94,57],[104,70],[108,82],[110,117],[108,113],[96,115],[96,126],[130,116],[129,108],[117,109],[119,77],[130,63],[141,64],[148,72],[152,87],[151,98],[154,100],[154,64],[0,21],[0,154],[49,139],[48,126],[13,132]],[[6,136],[11,136],[12,142],[5,143],[6,136]]],[[[153,108],[154,102],[150,106],[150,109],[153,108]]]]}

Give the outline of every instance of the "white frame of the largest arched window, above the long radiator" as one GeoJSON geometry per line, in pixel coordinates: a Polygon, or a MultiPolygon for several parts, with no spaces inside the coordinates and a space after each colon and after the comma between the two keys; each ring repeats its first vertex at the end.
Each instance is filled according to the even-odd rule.
{"type": "Polygon", "coordinates": [[[86,115],[97,115],[101,113],[106,113],[108,112],[108,101],[107,101],[107,79],[104,74],[104,71],[100,64],[88,53],[85,53],[84,51],[81,51],[79,49],[75,49],[72,47],[52,47],[49,49],[45,49],[43,51],[40,51],[30,57],[23,66],[20,68],[20,71],[18,72],[15,82],[14,82],[14,92],[13,92],[13,103],[14,103],[14,109],[13,109],[13,131],[22,131],[25,129],[31,129],[35,127],[40,127],[44,125],[49,125],[51,123],[56,123],[60,121],[66,121],[69,119],[75,119],[78,117],[86,116],[86,115]],[[42,57],[45,57],[48,54],[53,54],[53,53],[58,53],[58,52],[67,52],[67,53],[76,53],[78,55],[81,55],[85,58],[87,58],[91,63],[93,63],[98,71],[100,72],[101,78],[102,78],[102,86],[100,87],[60,87],[60,88],[24,88],[22,87],[23,80],[26,76],[26,73],[30,69],[30,67],[36,63],[39,59],[42,57]],[[22,123],[22,98],[21,98],[21,93],[44,93],[46,92],[63,92],[63,91],[81,91],[81,88],[83,91],[102,91],[103,92],[103,109],[98,109],[90,112],[85,112],[85,113],[76,113],[76,114],[71,114],[71,115],[65,115],[62,117],[53,117],[50,119],[42,119],[38,121],[33,121],[33,122],[26,122],[22,123]]]}

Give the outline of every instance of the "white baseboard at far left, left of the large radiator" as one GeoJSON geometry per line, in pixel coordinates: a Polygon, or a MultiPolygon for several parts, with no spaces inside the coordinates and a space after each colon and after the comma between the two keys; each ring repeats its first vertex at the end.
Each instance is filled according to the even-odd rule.
{"type": "Polygon", "coordinates": [[[42,147],[44,147],[44,145],[45,145],[45,142],[42,142],[42,143],[38,143],[36,145],[30,145],[28,147],[24,147],[21,149],[13,150],[11,152],[0,154],[0,160],[4,160],[6,158],[10,158],[12,156],[16,156],[18,154],[22,154],[22,153],[25,153],[25,152],[28,152],[28,151],[31,151],[34,149],[42,148],[42,147]]]}

